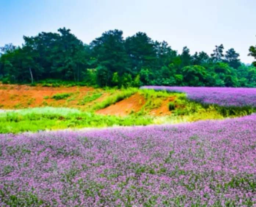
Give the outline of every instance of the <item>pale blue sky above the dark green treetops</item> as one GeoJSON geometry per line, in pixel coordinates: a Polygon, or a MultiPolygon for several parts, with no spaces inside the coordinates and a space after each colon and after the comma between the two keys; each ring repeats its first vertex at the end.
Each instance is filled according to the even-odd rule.
{"type": "Polygon", "coordinates": [[[145,32],[181,53],[234,48],[244,63],[256,45],[256,0],[0,0],[0,46],[66,27],[89,44],[105,31],[145,32]]]}

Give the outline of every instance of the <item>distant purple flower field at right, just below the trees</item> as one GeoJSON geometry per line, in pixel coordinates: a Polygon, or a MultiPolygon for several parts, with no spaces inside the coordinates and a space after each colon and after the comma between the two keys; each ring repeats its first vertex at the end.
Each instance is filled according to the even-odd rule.
{"type": "Polygon", "coordinates": [[[187,93],[189,99],[206,104],[256,107],[256,88],[143,86],[141,89],[184,92],[187,93]]]}

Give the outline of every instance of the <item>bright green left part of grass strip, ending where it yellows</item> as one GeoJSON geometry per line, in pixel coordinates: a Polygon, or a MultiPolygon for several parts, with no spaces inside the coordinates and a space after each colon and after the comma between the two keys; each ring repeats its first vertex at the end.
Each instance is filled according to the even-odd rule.
{"type": "Polygon", "coordinates": [[[33,108],[0,115],[0,133],[37,132],[82,127],[149,125],[152,118],[96,115],[69,108],[33,108]]]}

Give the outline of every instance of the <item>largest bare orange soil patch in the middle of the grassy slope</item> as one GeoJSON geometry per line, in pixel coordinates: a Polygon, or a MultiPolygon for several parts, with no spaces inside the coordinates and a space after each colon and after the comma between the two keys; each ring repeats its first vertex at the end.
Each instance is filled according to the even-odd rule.
{"type": "Polygon", "coordinates": [[[128,99],[119,101],[107,108],[103,108],[96,112],[96,114],[102,115],[116,115],[120,117],[125,117],[133,112],[140,111],[141,107],[145,104],[145,99],[138,93],[130,96],[128,99]]]}

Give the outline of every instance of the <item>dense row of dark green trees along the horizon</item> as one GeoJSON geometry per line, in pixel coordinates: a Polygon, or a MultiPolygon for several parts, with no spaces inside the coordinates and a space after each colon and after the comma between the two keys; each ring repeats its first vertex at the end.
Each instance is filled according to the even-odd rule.
{"type": "MultiPolygon", "coordinates": [[[[83,82],[98,86],[227,86],[256,87],[256,63],[248,66],[233,49],[215,46],[205,52],[181,54],[167,42],[153,41],[146,33],[123,38],[121,30],[109,30],[89,45],[71,30],[24,36],[21,47],[1,47],[0,80],[33,83],[46,80],[83,82]]],[[[249,48],[256,58],[256,47],[249,48]]]]}

